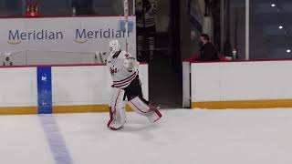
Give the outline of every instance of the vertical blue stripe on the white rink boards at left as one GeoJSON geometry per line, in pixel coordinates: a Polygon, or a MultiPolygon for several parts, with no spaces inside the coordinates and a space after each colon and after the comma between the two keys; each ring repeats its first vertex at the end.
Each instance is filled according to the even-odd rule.
{"type": "Polygon", "coordinates": [[[37,67],[37,106],[38,114],[52,113],[51,67],[37,67]]]}

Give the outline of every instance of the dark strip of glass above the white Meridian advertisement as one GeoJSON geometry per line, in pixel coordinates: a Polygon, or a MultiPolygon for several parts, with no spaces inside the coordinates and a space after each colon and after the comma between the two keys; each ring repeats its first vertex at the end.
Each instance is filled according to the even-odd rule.
{"type": "MultiPolygon", "coordinates": [[[[123,15],[123,0],[0,0],[0,16],[21,16],[26,3],[38,2],[40,15],[123,15]]],[[[133,15],[133,0],[129,0],[133,15]]]]}

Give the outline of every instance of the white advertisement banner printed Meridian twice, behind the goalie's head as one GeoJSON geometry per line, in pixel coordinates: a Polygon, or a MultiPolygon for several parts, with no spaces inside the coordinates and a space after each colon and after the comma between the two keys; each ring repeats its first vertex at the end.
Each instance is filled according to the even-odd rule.
{"type": "Polygon", "coordinates": [[[112,39],[136,56],[136,20],[124,16],[0,19],[0,53],[26,50],[77,53],[109,52],[112,39]]]}

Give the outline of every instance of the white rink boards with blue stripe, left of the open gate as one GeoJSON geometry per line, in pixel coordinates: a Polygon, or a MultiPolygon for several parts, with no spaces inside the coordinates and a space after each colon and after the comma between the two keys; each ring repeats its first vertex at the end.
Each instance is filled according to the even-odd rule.
{"type": "MultiPolygon", "coordinates": [[[[103,65],[0,67],[0,77],[3,115],[109,110],[111,79],[103,65]]],[[[140,78],[148,99],[148,65],[140,78]]]]}

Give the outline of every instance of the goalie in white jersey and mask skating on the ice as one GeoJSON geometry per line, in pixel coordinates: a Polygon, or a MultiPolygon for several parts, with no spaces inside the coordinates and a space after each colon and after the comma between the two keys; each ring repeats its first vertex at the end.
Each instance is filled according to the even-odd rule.
{"type": "Polygon", "coordinates": [[[126,51],[120,50],[118,40],[110,41],[110,56],[107,60],[113,85],[110,98],[110,121],[108,128],[120,129],[126,122],[126,98],[130,108],[145,116],[152,123],[162,118],[160,111],[149,105],[142,96],[139,79],[139,62],[126,51]]]}

